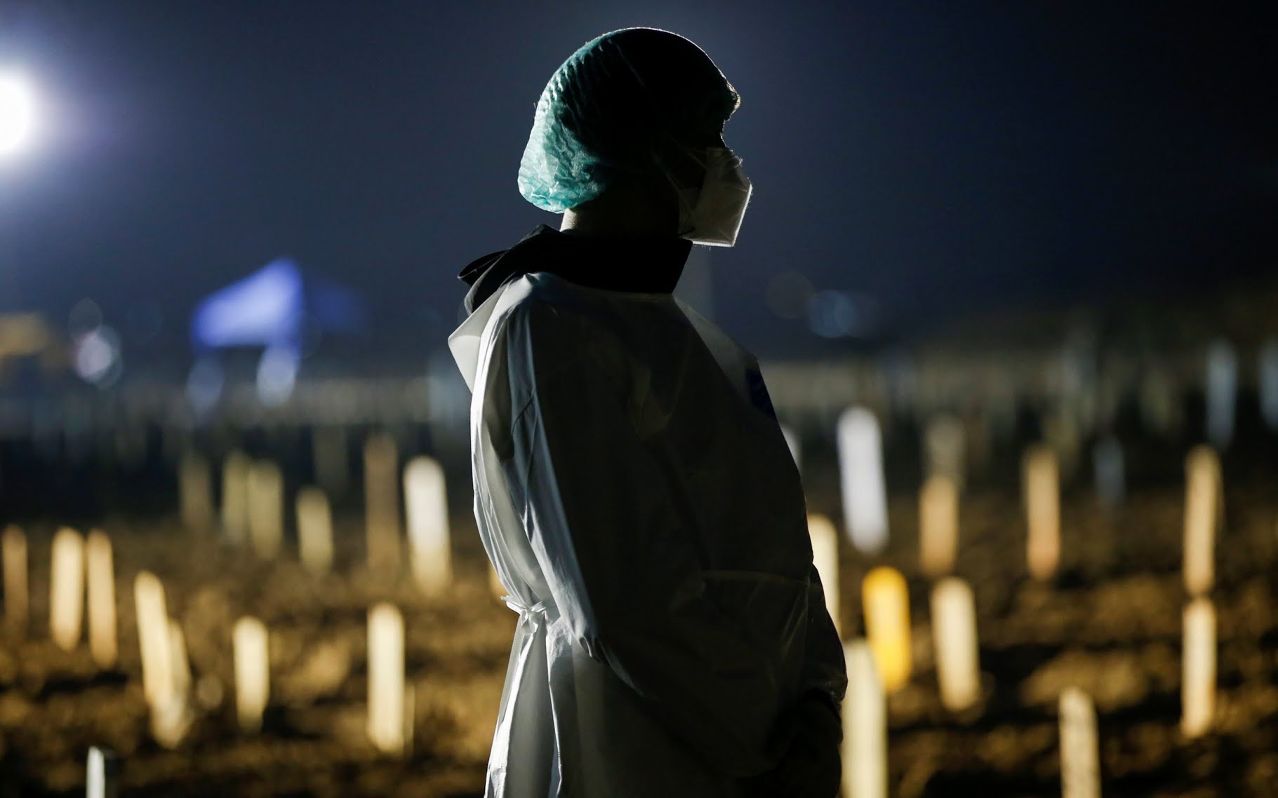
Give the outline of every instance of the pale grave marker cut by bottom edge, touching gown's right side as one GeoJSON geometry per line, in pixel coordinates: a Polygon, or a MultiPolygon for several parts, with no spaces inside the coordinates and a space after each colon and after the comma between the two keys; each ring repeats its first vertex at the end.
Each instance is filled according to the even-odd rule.
{"type": "Polygon", "coordinates": [[[887,798],[887,701],[864,640],[843,646],[847,697],[843,700],[843,795],[887,798]]]}

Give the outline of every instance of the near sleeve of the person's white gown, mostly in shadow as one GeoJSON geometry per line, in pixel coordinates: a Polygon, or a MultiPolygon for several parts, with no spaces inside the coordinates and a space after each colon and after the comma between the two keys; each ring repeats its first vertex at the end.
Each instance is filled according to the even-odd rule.
{"type": "Polygon", "coordinates": [[[506,481],[574,638],[711,766],[773,767],[777,674],[707,594],[691,532],[627,415],[624,352],[575,314],[535,304],[507,320],[502,346],[506,481]]]}

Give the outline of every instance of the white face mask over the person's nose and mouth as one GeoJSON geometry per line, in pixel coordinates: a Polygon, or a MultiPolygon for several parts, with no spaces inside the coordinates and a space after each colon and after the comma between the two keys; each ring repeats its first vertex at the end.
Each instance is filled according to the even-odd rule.
{"type": "Polygon", "coordinates": [[[705,148],[705,180],[699,190],[680,189],[679,237],[732,246],[750,202],[750,179],[741,171],[741,158],[726,147],[705,148]]]}

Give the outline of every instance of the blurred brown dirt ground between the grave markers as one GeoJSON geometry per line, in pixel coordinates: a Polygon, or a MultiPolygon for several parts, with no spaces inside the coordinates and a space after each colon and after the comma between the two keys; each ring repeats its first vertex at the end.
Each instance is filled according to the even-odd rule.
{"type": "MultiPolygon", "coordinates": [[[[810,509],[837,518],[829,455],[814,449],[805,479],[810,509]]],[[[1173,458],[1162,474],[1178,470],[1173,458]]],[[[845,637],[859,633],[859,583],[870,567],[892,564],[910,583],[916,663],[888,706],[891,794],[1058,795],[1056,701],[1076,684],[1097,704],[1104,794],[1278,795],[1278,498],[1266,480],[1228,490],[1213,591],[1217,715],[1214,732],[1192,742],[1178,730],[1186,596],[1177,480],[1135,485],[1117,509],[1102,508],[1085,479],[1067,485],[1062,569],[1052,585],[1026,576],[1015,484],[1015,467],[993,474],[962,504],[956,572],[976,596],[984,689],[960,715],[942,707],[935,684],[912,492],[892,492],[883,555],[842,548],[845,637]]],[[[104,523],[115,544],[121,651],[109,673],[95,669],[87,645],[63,652],[49,642],[52,522],[29,525],[29,633],[0,638],[0,797],[82,794],[91,744],[116,752],[121,794],[130,797],[482,794],[515,614],[488,586],[468,511],[454,511],[456,587],[435,600],[406,577],[374,578],[358,566],[353,516],[339,518],[339,566],[326,577],[289,557],[261,562],[173,520],[104,523]],[[132,606],[141,569],[162,578],[189,649],[198,718],[175,751],[147,732],[132,606]],[[367,610],[381,600],[404,612],[406,673],[417,688],[404,760],[378,756],[364,735],[367,610]],[[238,730],[231,695],[230,635],[242,614],[271,631],[271,705],[256,737],[238,730]]]]}

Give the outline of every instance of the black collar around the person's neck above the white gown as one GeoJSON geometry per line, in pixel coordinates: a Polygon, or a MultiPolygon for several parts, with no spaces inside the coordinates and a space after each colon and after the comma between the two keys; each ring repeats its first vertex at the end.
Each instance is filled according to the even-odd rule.
{"type": "Polygon", "coordinates": [[[675,236],[587,236],[538,225],[510,249],[473,260],[458,278],[470,286],[463,303],[468,315],[506,281],[533,272],[592,289],[670,294],[691,249],[691,241],[675,236]]]}

